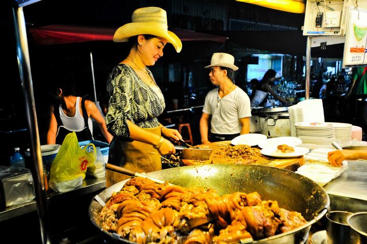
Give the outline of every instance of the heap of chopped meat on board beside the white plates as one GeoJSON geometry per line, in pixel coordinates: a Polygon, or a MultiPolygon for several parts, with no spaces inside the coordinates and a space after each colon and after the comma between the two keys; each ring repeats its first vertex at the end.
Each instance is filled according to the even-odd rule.
{"type": "Polygon", "coordinates": [[[257,160],[261,157],[260,149],[251,148],[248,145],[226,146],[217,151],[218,154],[224,154],[231,158],[241,158],[257,160]]]}

